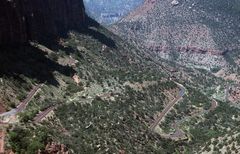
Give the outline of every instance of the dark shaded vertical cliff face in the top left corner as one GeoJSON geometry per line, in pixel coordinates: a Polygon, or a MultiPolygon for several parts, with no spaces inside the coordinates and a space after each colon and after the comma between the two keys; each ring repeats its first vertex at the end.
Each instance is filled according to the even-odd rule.
{"type": "Polygon", "coordinates": [[[55,38],[85,20],[83,0],[2,0],[0,45],[55,38]]]}

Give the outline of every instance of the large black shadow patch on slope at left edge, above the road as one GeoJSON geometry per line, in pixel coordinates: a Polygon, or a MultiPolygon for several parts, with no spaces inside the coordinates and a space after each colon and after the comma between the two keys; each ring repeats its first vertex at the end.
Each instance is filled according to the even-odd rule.
{"type": "Polygon", "coordinates": [[[54,86],[59,83],[54,78],[54,71],[70,76],[74,70],[62,66],[46,57],[46,53],[30,45],[0,47],[0,77],[13,77],[21,80],[24,75],[39,82],[47,82],[54,86]]]}

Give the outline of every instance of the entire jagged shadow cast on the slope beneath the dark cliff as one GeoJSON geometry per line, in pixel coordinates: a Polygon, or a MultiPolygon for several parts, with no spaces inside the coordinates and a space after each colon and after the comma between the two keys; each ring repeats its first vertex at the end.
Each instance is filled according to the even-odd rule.
{"type": "MultiPolygon", "coordinates": [[[[97,30],[99,27],[100,24],[91,18],[87,18],[86,23],[78,28],[61,31],[58,36],[43,34],[42,37],[34,41],[47,46],[53,51],[57,52],[62,49],[67,54],[70,54],[76,52],[76,50],[71,47],[64,48],[57,43],[57,40],[60,37],[67,38],[69,31],[76,31],[84,35],[92,36],[108,47],[116,48],[115,42],[110,37],[107,37],[104,33],[97,30]]],[[[55,61],[47,58],[46,54],[47,53],[28,44],[0,46],[0,77],[14,77],[15,79],[21,80],[19,75],[22,74],[31,79],[36,79],[39,82],[47,82],[54,86],[58,86],[59,83],[53,75],[55,71],[66,76],[72,76],[75,73],[73,68],[59,65],[55,61]]]]}

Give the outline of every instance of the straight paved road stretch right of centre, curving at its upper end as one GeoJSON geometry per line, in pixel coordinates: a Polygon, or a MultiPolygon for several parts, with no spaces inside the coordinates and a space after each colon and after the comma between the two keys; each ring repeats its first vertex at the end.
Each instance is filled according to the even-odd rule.
{"type": "Polygon", "coordinates": [[[158,116],[158,118],[155,120],[155,122],[150,126],[150,130],[154,130],[156,128],[157,125],[159,125],[162,121],[162,119],[167,115],[167,113],[172,109],[172,107],[179,101],[182,99],[182,97],[185,95],[186,93],[186,90],[185,88],[179,84],[179,83],[176,83],[179,88],[180,88],[180,91],[179,91],[179,94],[178,96],[172,101],[170,102],[164,109],[163,111],[160,113],[160,115],[158,116]]]}

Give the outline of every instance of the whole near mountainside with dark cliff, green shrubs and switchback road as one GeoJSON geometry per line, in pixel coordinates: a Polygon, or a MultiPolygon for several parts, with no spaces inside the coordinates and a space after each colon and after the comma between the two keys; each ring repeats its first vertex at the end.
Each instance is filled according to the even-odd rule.
{"type": "MultiPolygon", "coordinates": [[[[40,17],[28,22],[37,25],[26,29],[34,38],[2,36],[7,44],[0,48],[0,100],[9,110],[0,114],[5,153],[199,153],[216,151],[221,138],[231,138],[223,149],[238,148],[239,110],[209,97],[225,98],[222,79],[153,59],[85,16],[82,1],[35,0],[45,7],[29,8],[27,1],[5,2],[16,5],[0,16],[32,9],[40,17]],[[48,28],[56,33],[43,21],[53,23],[48,28]]],[[[13,27],[20,19],[4,24],[13,27]]]]}

